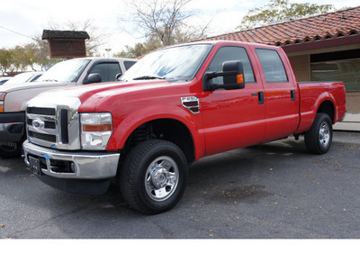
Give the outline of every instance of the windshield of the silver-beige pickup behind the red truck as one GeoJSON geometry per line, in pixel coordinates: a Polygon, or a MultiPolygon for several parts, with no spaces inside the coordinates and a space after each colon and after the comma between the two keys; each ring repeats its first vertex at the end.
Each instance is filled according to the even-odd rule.
{"type": "Polygon", "coordinates": [[[60,62],[49,68],[37,82],[76,82],[83,72],[89,59],[74,59],[60,62]]]}

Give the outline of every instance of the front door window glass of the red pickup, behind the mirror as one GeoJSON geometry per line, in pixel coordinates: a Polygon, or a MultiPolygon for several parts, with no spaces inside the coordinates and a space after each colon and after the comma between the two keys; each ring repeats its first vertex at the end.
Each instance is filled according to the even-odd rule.
{"type": "MultiPolygon", "coordinates": [[[[223,62],[233,60],[239,60],[243,64],[245,83],[255,83],[256,81],[254,71],[253,67],[251,66],[250,59],[247,56],[247,50],[242,47],[225,46],[220,48],[216,52],[214,58],[212,58],[211,63],[206,71],[221,72],[223,62]]],[[[214,77],[211,79],[211,83],[222,85],[223,78],[221,76],[214,77]]]]}

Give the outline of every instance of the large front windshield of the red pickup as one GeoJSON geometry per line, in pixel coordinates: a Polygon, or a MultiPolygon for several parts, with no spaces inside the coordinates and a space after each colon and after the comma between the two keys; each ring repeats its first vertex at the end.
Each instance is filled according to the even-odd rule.
{"type": "Polygon", "coordinates": [[[191,80],[210,49],[210,44],[197,44],[157,50],[140,59],[121,80],[191,80]]]}

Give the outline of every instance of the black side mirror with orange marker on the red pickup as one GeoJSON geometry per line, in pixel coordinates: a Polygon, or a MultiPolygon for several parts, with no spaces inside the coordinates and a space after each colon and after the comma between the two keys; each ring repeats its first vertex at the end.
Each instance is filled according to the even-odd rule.
{"type": "Polygon", "coordinates": [[[244,67],[240,61],[226,61],[222,64],[222,72],[208,72],[202,78],[203,91],[214,91],[216,89],[242,89],[245,87],[244,67]],[[211,84],[213,77],[222,76],[224,84],[211,84]]]}

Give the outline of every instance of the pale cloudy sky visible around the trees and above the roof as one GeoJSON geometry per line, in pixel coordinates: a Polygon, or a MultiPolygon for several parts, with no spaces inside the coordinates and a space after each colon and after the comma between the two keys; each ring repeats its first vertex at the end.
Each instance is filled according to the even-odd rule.
{"type": "MultiPolygon", "coordinates": [[[[140,1],[140,0],[137,0],[140,1]]],[[[193,25],[211,22],[207,36],[236,31],[247,11],[262,7],[269,0],[192,0],[185,5],[193,10],[193,25]]],[[[359,5],[358,0],[290,0],[291,3],[333,4],[336,9],[359,5]]],[[[94,3],[80,0],[11,0],[3,1],[0,8],[0,49],[31,43],[34,36],[40,37],[44,29],[56,23],[92,20],[99,31],[104,33],[103,46],[99,50],[103,56],[105,49],[110,54],[120,52],[126,45],[133,46],[143,41],[143,35],[130,21],[131,0],[102,0],[94,3]]],[[[63,29],[65,30],[65,29],[63,29]]]]}

